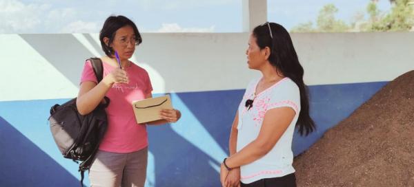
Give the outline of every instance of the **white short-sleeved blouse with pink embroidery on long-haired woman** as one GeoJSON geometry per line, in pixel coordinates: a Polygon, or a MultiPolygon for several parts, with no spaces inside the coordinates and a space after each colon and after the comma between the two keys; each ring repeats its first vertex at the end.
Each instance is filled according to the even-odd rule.
{"type": "Polygon", "coordinates": [[[253,80],[248,85],[242,102],[239,104],[237,152],[250,142],[253,142],[257,135],[259,135],[264,114],[269,109],[291,107],[296,114],[293,121],[290,122],[288,129],[286,129],[279,141],[266,155],[240,167],[241,181],[244,184],[264,178],[283,177],[295,172],[292,166],[292,139],[300,111],[299,87],[290,78],[283,78],[275,85],[268,87],[268,89],[255,96],[255,89],[259,80],[253,80]],[[248,99],[253,100],[253,107],[250,109],[245,107],[246,100],[248,99]]]}

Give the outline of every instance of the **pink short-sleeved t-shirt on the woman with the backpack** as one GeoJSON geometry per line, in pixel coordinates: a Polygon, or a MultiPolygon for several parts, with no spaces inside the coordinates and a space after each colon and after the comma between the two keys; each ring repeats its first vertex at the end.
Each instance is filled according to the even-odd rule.
{"type": "MultiPolygon", "coordinates": [[[[117,67],[103,62],[103,77],[114,68],[117,67]]],[[[130,153],[148,146],[146,125],[137,124],[131,102],[145,99],[146,94],[152,91],[150,78],[145,69],[134,63],[126,68],[126,72],[129,83],[113,84],[106,93],[106,97],[110,99],[106,108],[108,130],[99,146],[101,151],[130,153]]],[[[85,81],[97,83],[90,61],[86,61],[83,67],[81,83],[85,81]]]]}

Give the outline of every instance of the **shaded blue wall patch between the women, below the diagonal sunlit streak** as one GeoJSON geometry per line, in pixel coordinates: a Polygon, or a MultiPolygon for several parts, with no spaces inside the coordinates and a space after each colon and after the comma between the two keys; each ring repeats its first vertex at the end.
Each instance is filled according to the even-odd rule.
{"type": "Polygon", "coordinates": [[[219,175],[209,164],[219,165],[215,159],[170,126],[149,127],[148,133],[150,152],[155,160],[155,186],[220,186],[219,175]]]}

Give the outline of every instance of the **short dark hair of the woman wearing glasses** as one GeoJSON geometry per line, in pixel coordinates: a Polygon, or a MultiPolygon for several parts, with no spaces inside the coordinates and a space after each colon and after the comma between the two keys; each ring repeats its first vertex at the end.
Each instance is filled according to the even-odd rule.
{"type": "Polygon", "coordinates": [[[124,28],[126,25],[130,25],[134,30],[135,38],[137,39],[137,45],[142,43],[141,34],[139,34],[137,25],[135,25],[134,22],[121,15],[110,16],[106,19],[105,23],[103,23],[101,32],[99,32],[99,41],[101,41],[102,50],[106,55],[112,56],[114,50],[112,50],[112,47],[109,47],[109,45],[106,45],[106,43],[103,42],[103,38],[107,37],[109,39],[108,44],[112,43],[112,41],[114,41],[115,33],[117,30],[119,30],[119,28],[124,28]]]}

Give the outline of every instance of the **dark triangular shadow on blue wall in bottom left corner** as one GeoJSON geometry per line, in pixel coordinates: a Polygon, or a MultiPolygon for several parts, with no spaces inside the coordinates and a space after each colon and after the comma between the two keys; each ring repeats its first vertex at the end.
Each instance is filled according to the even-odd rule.
{"type": "Polygon", "coordinates": [[[0,186],[79,186],[79,180],[0,117],[0,186]]]}

